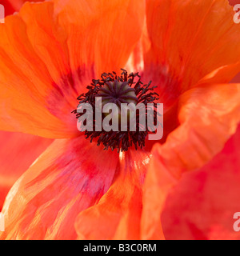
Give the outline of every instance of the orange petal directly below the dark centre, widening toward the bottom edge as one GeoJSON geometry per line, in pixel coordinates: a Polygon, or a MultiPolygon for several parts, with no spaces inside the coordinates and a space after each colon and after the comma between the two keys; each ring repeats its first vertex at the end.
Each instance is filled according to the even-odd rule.
{"type": "Polygon", "coordinates": [[[150,154],[129,150],[120,156],[120,166],[110,190],[96,206],[78,215],[78,239],[139,239],[142,185],[150,154]]]}

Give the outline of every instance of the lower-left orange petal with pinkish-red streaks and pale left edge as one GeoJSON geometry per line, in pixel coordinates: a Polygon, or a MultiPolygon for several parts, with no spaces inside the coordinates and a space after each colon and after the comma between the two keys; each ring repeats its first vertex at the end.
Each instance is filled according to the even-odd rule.
{"type": "Polygon", "coordinates": [[[76,216],[106,193],[117,163],[83,137],[55,140],[10,190],[0,239],[75,239],[76,216]]]}

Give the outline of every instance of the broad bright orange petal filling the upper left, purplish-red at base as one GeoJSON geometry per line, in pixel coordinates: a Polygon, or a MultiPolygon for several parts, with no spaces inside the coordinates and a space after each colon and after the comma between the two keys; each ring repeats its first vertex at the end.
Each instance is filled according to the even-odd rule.
{"type": "Polygon", "coordinates": [[[1,129],[47,138],[78,134],[70,113],[76,98],[102,70],[125,65],[141,36],[140,3],[26,3],[7,17],[0,26],[1,129]]]}

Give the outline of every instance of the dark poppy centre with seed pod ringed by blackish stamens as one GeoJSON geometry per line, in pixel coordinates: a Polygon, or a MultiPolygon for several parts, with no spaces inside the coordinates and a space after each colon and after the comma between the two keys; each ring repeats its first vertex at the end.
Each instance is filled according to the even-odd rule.
{"type": "MultiPolygon", "coordinates": [[[[125,106],[128,104],[138,106],[138,104],[142,103],[144,106],[143,118],[146,119],[148,103],[154,103],[155,100],[158,100],[158,94],[154,92],[155,87],[150,87],[151,82],[144,85],[141,82],[141,77],[138,75],[138,73],[127,74],[126,70],[122,71],[121,76],[118,76],[115,72],[109,74],[103,73],[101,76],[102,79],[93,79],[91,86],[86,87],[88,89],[86,94],[81,94],[78,97],[79,105],[82,103],[88,103],[93,109],[93,129],[85,130],[86,138],[90,138],[90,142],[93,142],[94,139],[98,139],[98,146],[103,144],[105,146],[105,150],[117,149],[118,152],[120,150],[126,151],[131,146],[134,146],[136,150],[138,150],[138,147],[142,148],[145,146],[147,134],[152,131],[147,127],[145,130],[141,129],[142,122],[140,122],[140,111],[135,113],[135,130],[130,129],[129,112],[127,114],[126,129],[124,131],[121,130],[122,126],[120,124],[118,124],[118,130],[99,130],[96,120],[97,117],[99,118],[99,113],[96,111],[96,99],[102,99],[102,110],[104,110],[106,104],[114,103],[114,105],[117,106],[117,110],[119,110],[117,111],[118,121],[123,119],[121,111],[122,104],[125,106]],[[137,82],[134,82],[135,78],[138,78],[137,82]]],[[[74,110],[72,113],[76,114],[76,118],[78,119],[83,115],[82,112],[79,113],[78,109],[74,110]]],[[[154,111],[154,118],[156,119],[156,117],[157,112],[154,111]]],[[[104,124],[103,119],[106,118],[106,114],[102,114],[100,118],[104,124]]]]}

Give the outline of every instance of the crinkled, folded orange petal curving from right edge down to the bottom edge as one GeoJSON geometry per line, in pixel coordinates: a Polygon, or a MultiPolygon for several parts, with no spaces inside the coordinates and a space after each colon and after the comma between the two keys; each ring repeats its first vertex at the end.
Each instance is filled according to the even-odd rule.
{"type": "Polygon", "coordinates": [[[239,98],[239,84],[199,86],[182,94],[180,126],[165,144],[152,150],[143,198],[142,238],[162,238],[160,216],[166,195],[183,172],[204,166],[222,150],[240,122],[239,98]]]}

